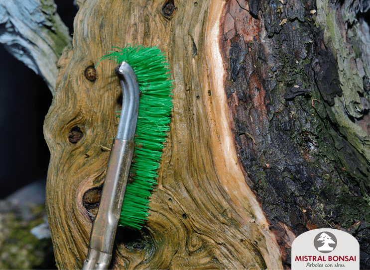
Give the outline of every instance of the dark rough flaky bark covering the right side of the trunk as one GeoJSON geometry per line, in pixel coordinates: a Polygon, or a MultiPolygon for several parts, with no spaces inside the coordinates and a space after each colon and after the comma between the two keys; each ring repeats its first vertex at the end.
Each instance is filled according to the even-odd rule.
{"type": "Polygon", "coordinates": [[[353,234],[370,269],[368,5],[235,0],[223,11],[237,152],[286,269],[295,236],[323,227],[353,234]]]}

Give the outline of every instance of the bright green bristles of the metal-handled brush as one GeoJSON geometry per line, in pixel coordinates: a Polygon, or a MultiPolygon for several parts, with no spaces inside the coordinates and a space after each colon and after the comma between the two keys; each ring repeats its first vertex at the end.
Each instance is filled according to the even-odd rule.
{"type": "Polygon", "coordinates": [[[128,63],[135,72],[141,91],[136,125],[133,182],[127,183],[120,226],[141,229],[148,216],[150,191],[158,178],[157,170],[162,155],[166,132],[169,130],[172,109],[169,65],[158,47],[126,45],[119,52],[110,52],[104,59],[128,63]]]}

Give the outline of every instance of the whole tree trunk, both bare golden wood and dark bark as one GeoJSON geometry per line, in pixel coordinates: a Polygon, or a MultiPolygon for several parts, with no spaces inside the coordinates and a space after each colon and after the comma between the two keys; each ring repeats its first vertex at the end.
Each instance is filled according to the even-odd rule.
{"type": "Polygon", "coordinates": [[[58,268],[86,257],[118,125],[115,63],[93,66],[127,43],[168,56],[174,108],[149,219],[119,228],[112,268],[289,269],[321,227],[355,235],[370,268],[365,1],[79,4],[44,125],[58,268]]]}

